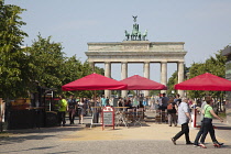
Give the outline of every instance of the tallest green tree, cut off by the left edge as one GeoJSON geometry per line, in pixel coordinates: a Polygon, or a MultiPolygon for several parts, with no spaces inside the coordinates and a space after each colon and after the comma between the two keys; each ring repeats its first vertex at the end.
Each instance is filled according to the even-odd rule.
{"type": "Polygon", "coordinates": [[[0,1],[0,97],[14,98],[26,95],[29,78],[24,76],[28,57],[21,48],[28,36],[19,14],[25,9],[0,1]]]}

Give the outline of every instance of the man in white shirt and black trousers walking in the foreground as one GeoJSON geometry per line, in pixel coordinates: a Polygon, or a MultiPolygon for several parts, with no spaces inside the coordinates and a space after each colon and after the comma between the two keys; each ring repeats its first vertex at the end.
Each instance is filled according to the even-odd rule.
{"type": "Polygon", "coordinates": [[[179,131],[174,138],[173,143],[176,145],[176,141],[185,134],[186,144],[194,144],[189,140],[189,128],[188,123],[191,122],[191,116],[188,107],[188,99],[183,98],[178,107],[178,123],[182,124],[182,131],[179,131]]]}

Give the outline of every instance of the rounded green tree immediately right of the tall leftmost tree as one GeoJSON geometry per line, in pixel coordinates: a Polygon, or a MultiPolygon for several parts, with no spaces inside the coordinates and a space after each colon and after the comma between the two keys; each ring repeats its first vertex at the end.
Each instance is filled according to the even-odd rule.
{"type": "Polygon", "coordinates": [[[64,62],[66,57],[62,52],[61,43],[51,41],[51,36],[43,38],[41,34],[37,35],[37,41],[34,40],[31,47],[28,47],[30,53],[30,89],[34,89],[33,82],[38,82],[42,87],[61,88],[64,79],[64,62]]]}

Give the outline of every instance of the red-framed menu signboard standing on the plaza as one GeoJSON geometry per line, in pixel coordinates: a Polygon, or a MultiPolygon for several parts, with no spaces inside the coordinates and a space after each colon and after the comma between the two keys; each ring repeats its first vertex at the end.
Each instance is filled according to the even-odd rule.
{"type": "Polygon", "coordinates": [[[102,108],[102,130],[106,125],[112,125],[114,129],[114,109],[110,106],[102,108]]]}

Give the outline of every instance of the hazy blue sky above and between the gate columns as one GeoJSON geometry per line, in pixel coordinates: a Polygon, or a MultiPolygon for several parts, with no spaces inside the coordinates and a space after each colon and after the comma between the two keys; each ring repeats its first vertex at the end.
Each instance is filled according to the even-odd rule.
{"type": "MultiPolygon", "coordinates": [[[[20,16],[29,34],[24,46],[52,36],[63,52],[87,61],[89,42],[122,42],[124,30],[132,31],[138,15],[141,32],[150,42],[185,42],[185,64],[204,63],[231,43],[231,0],[6,0],[26,9],[20,16]]],[[[96,64],[105,68],[103,64],[96,64]]],[[[129,64],[128,77],[143,76],[143,64],[129,64]]],[[[111,76],[121,79],[120,64],[112,64],[111,76]]],[[[167,65],[167,77],[177,69],[167,65]]],[[[150,78],[161,81],[160,64],[151,64],[150,78]]]]}

